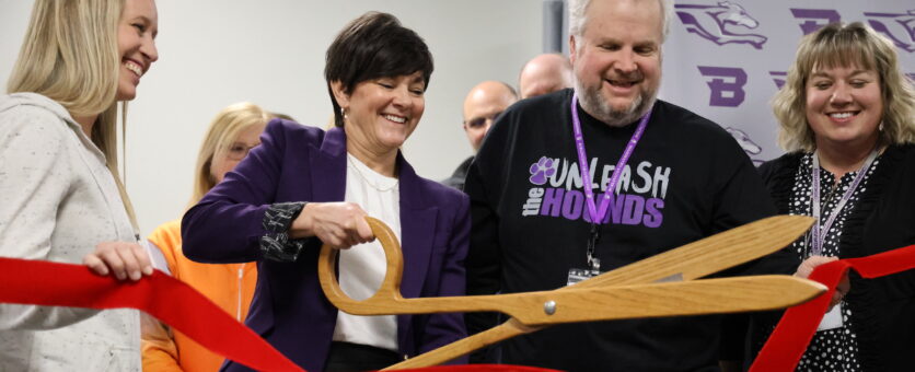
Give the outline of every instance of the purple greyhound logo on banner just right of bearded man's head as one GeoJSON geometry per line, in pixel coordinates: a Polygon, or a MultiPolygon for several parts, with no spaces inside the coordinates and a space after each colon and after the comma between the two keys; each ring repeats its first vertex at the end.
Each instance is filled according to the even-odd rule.
{"type": "Polygon", "coordinates": [[[720,1],[717,5],[676,4],[674,8],[687,32],[715,44],[750,44],[756,49],[762,49],[768,39],[763,35],[739,34],[730,30],[729,25],[746,28],[760,26],[760,22],[738,3],[720,1]]]}

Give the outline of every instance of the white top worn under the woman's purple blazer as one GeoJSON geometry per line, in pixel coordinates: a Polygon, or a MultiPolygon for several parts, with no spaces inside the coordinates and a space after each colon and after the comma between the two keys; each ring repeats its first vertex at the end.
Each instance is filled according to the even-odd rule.
{"type": "MultiPolygon", "coordinates": [[[[346,154],[345,201],[362,207],[369,216],[384,221],[401,240],[401,195],[397,178],[372,171],[356,156],[346,154]]],[[[381,287],[387,260],[381,243],[359,244],[340,251],[340,288],[355,300],[370,298],[381,287]]],[[[394,315],[360,316],[337,312],[334,340],[397,351],[394,315]]]]}

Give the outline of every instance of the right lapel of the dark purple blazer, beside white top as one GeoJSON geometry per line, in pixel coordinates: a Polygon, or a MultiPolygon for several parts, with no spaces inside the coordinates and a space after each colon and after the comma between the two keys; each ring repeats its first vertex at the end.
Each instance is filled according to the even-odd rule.
{"type": "MultiPolygon", "coordinates": [[[[397,168],[401,179],[401,249],[404,256],[401,294],[416,298],[422,290],[429,269],[438,207],[427,200],[421,181],[399,153],[397,168]]],[[[397,316],[397,336],[402,346],[404,337],[412,332],[408,318],[408,315],[397,316]]]]}

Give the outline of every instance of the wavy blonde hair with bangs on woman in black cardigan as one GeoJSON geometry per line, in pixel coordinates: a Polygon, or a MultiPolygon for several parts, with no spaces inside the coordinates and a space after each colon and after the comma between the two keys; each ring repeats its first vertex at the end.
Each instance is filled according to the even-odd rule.
{"type": "Polygon", "coordinates": [[[915,142],[915,89],[902,73],[893,43],[860,22],[831,23],[804,36],[785,85],[772,101],[779,123],[778,144],[785,151],[813,151],[813,130],[807,123],[807,81],[814,69],[856,66],[880,75],[887,144],[915,142]]]}

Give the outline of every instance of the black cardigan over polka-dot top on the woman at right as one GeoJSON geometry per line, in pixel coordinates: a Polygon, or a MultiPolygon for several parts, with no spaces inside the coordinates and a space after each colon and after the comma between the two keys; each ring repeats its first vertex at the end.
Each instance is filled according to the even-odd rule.
{"type": "MultiPolygon", "coordinates": [[[[787,213],[802,153],[760,167],[779,213],[787,213]]],[[[915,244],[915,146],[891,146],[842,230],[839,257],[864,257],[915,244]]],[[[915,270],[876,279],[849,274],[852,324],[865,371],[915,365],[915,270]]],[[[758,330],[758,329],[756,329],[758,330]]],[[[754,342],[757,344],[757,342],[754,342]]],[[[758,351],[758,350],[756,350],[758,351]]]]}

